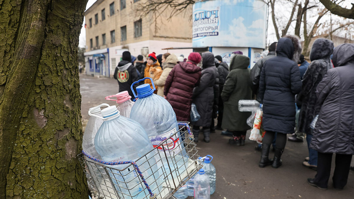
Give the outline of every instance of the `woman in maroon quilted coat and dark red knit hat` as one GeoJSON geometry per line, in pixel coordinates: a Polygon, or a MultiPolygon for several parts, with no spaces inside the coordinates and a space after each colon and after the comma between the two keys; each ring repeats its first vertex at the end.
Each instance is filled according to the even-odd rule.
{"type": "Polygon", "coordinates": [[[187,62],[179,62],[166,79],[164,96],[175,110],[178,121],[189,121],[193,88],[200,82],[201,60],[198,52],[192,52],[187,62]]]}

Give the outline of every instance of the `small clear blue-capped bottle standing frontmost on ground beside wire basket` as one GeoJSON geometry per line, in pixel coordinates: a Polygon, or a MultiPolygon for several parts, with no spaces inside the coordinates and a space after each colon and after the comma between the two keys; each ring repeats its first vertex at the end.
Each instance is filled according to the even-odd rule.
{"type": "Polygon", "coordinates": [[[200,169],[194,177],[194,199],[210,199],[209,177],[200,169]]]}

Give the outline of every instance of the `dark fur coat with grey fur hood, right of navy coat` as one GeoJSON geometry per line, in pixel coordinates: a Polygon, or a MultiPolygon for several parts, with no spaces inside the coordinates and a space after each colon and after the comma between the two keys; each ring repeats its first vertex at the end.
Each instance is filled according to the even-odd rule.
{"type": "Polygon", "coordinates": [[[316,89],[327,70],[331,68],[330,56],[333,53],[333,42],[329,39],[318,38],[310,52],[311,63],[302,80],[301,92],[296,97],[297,105],[301,105],[299,114],[299,131],[312,134],[310,124],[319,113],[315,109],[317,103],[316,89]]]}

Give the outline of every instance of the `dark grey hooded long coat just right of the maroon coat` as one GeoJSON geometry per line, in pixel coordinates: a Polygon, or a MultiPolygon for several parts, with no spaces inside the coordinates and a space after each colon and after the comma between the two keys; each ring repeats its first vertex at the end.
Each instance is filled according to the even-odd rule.
{"type": "Polygon", "coordinates": [[[203,52],[202,71],[200,83],[193,89],[193,103],[195,103],[200,119],[195,126],[210,126],[214,99],[218,98],[218,71],[214,63],[214,55],[211,52],[203,52]],[[216,96],[215,96],[216,95],[216,96]]]}

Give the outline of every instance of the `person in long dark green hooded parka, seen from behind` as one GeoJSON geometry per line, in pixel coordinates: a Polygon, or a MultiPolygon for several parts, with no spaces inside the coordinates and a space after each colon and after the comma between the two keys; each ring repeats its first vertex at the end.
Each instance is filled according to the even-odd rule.
{"type": "Polygon", "coordinates": [[[246,132],[251,129],[246,120],[251,112],[240,112],[238,103],[240,99],[252,99],[250,82],[250,58],[235,55],[230,63],[230,73],[226,78],[221,98],[224,102],[222,128],[233,132],[230,144],[245,145],[246,132]]]}

